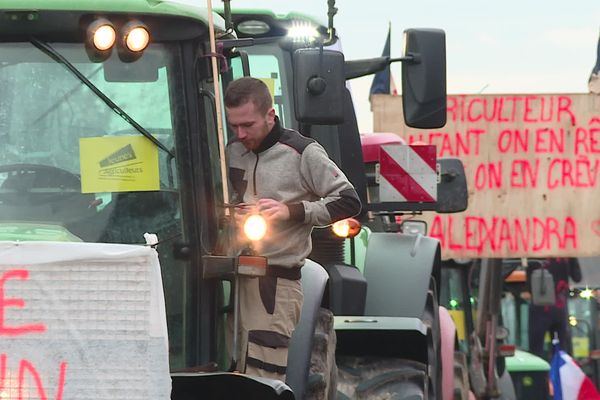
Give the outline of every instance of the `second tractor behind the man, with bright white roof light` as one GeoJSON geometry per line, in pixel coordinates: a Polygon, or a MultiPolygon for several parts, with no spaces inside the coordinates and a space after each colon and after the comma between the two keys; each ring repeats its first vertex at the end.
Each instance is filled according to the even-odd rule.
{"type": "MultiPolygon", "coordinates": [[[[330,8],[330,17],[333,14],[335,11],[330,8]]],[[[357,237],[344,240],[335,236],[331,229],[313,232],[311,259],[323,265],[329,274],[323,306],[335,315],[335,355],[339,373],[336,390],[335,377],[320,371],[320,362],[313,358],[309,381],[316,387],[325,386],[328,398],[333,398],[336,391],[342,398],[383,394],[409,398],[417,393],[423,398],[442,398],[437,314],[439,243],[424,236],[400,234],[397,227],[394,231],[385,230],[382,224],[407,211],[443,207],[448,211],[452,207],[464,209],[466,195],[462,197],[461,205],[457,205],[461,200],[452,203],[452,197],[444,195],[440,195],[442,201],[429,204],[379,203],[372,198],[369,201],[368,182],[372,177],[365,173],[365,165],[361,162],[360,135],[349,92],[343,96],[343,124],[315,124],[302,116],[304,105],[297,102],[299,96],[294,82],[305,79],[306,73],[299,68],[296,57],[304,49],[317,45],[319,40],[326,41],[329,48],[340,47],[331,21],[327,28],[300,14],[278,15],[268,10],[233,8],[232,26],[239,37],[255,42],[254,46],[240,49],[244,54],[239,61],[234,60],[234,77],[242,75],[246,63],[253,76],[272,81],[279,115],[284,116],[286,124],[323,144],[354,183],[365,205],[366,212],[360,218],[363,228],[354,228],[357,237]],[[294,37],[296,31],[290,28],[299,26],[304,27],[302,32],[305,34],[312,33],[307,37],[294,37]],[[244,57],[248,61],[244,61],[244,57]],[[400,259],[403,261],[393,261],[400,259]]],[[[425,96],[434,99],[427,104],[430,107],[428,119],[409,120],[409,123],[433,127],[443,123],[439,114],[445,114],[445,105],[440,102],[445,99],[445,90],[442,90],[445,87],[445,60],[441,57],[444,54],[441,32],[426,33],[429,36],[423,35],[421,39],[417,39],[420,32],[412,33],[417,35],[413,40],[421,40],[421,59],[431,74],[428,80],[436,83],[431,86],[438,94],[425,96]],[[436,112],[431,113],[432,109],[436,112]]],[[[410,80],[411,64],[409,60],[404,61],[408,62],[406,79],[410,80]]],[[[382,57],[346,61],[338,71],[343,78],[352,79],[383,69],[389,62],[382,57]]],[[[407,104],[411,104],[410,100],[407,104]]],[[[456,164],[447,164],[447,169],[456,169],[456,164]]],[[[457,172],[460,170],[462,168],[456,169],[457,172]]],[[[451,185],[442,185],[446,186],[451,185]]],[[[331,322],[325,324],[331,325],[331,322]]],[[[329,349],[329,352],[334,350],[332,336],[321,335],[315,339],[322,343],[321,348],[329,349]]],[[[331,360],[332,355],[320,357],[324,358],[331,360]]]]}

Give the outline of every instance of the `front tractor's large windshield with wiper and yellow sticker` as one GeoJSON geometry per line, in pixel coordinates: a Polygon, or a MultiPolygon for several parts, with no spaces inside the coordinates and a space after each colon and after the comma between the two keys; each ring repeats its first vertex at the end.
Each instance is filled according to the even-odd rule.
{"type": "MultiPolygon", "coordinates": [[[[93,62],[82,43],[50,46],[117,107],[32,43],[0,43],[0,240],[184,240],[173,156],[187,126],[180,47],[153,43],[133,62],[116,50],[93,62]]],[[[171,364],[182,366],[183,261],[160,250],[171,364]]]]}

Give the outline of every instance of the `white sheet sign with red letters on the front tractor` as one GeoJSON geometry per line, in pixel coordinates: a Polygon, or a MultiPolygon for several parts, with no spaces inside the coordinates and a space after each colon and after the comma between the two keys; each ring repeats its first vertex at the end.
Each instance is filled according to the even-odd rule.
{"type": "Polygon", "coordinates": [[[170,392],[154,250],[0,242],[0,398],[167,400],[170,392]]]}

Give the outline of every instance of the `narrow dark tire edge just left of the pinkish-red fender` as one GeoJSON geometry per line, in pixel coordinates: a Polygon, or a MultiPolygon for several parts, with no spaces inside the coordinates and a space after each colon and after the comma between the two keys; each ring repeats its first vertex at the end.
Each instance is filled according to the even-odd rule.
{"type": "Polygon", "coordinates": [[[432,399],[442,398],[442,335],[440,328],[439,306],[433,290],[427,293],[427,303],[422,317],[431,334],[432,344],[428,345],[427,361],[429,365],[429,393],[432,399]]]}

